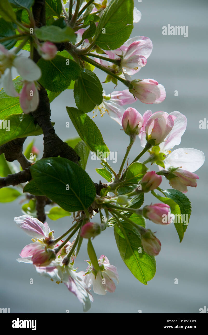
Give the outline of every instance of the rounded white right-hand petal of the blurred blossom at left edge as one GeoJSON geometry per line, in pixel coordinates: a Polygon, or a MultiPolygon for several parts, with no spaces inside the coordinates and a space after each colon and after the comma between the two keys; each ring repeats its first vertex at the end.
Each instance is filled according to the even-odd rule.
{"type": "Polygon", "coordinates": [[[17,56],[13,61],[13,65],[23,80],[34,81],[41,77],[40,67],[30,58],[17,56]]]}

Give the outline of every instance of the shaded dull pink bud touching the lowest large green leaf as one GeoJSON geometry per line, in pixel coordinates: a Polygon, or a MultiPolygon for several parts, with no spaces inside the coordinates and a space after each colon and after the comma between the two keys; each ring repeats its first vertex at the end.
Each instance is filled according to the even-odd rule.
{"type": "Polygon", "coordinates": [[[141,242],[144,251],[148,255],[157,256],[159,254],[161,243],[150,229],[147,229],[147,232],[141,236],[141,242]]]}

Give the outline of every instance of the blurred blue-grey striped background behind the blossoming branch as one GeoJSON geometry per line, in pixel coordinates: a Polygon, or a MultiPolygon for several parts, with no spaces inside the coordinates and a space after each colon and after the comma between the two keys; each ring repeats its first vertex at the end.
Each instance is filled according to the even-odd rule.
{"type": "MultiPolygon", "coordinates": [[[[142,115],[147,109],[151,109],[153,113],[162,110],[185,114],[188,119],[187,130],[180,146],[175,149],[193,147],[204,151],[207,156],[208,129],[199,129],[199,121],[204,118],[208,120],[207,0],[135,0],[135,7],[141,11],[142,18],[134,25],[131,37],[149,37],[153,42],[153,51],[146,66],[134,79],[157,80],[166,89],[166,99],[160,105],[145,105],[138,100],[130,106],[142,115]],[[162,26],[168,24],[188,26],[188,37],[162,35],[162,26]],[[174,95],[175,90],[178,91],[178,96],[174,95]]],[[[105,80],[104,73],[97,70],[95,73],[100,81],[105,80]]],[[[102,85],[106,94],[114,90],[112,83],[102,85]]],[[[119,83],[116,90],[125,88],[119,83]]],[[[63,140],[77,136],[65,106],[76,107],[72,90],[62,92],[51,104],[51,119],[55,122],[56,133],[63,140]],[[70,121],[70,128],[66,128],[67,121],[70,121]]],[[[89,115],[92,116],[92,112],[89,115]]],[[[118,152],[118,162],[112,163],[118,170],[129,138],[107,114],[102,118],[98,115],[93,120],[110,151],[118,152]]],[[[31,138],[27,138],[25,147],[30,141],[31,138]]],[[[43,136],[36,137],[35,145],[42,153],[43,136]]],[[[130,153],[130,161],[140,151],[140,142],[137,139],[130,153]]],[[[90,157],[91,154],[86,171],[94,182],[99,182],[100,176],[95,168],[101,166],[99,161],[91,160],[90,157]]],[[[155,168],[157,169],[156,165],[155,168]]],[[[155,277],[148,285],[140,283],[123,263],[113,228],[107,228],[93,240],[97,256],[106,255],[110,263],[117,267],[120,283],[114,293],[107,292],[106,295],[99,296],[92,292],[94,302],[87,313],[138,313],[138,310],[142,310],[142,313],[199,313],[199,308],[208,306],[207,171],[205,161],[196,172],[200,178],[197,188],[189,187],[186,193],[192,203],[192,214],[182,243],[179,243],[173,224],[155,225],[148,220],[147,227],[157,231],[156,236],[162,244],[161,252],[156,257],[155,277]],[[178,284],[174,283],[175,278],[178,279],[178,284]]],[[[102,179],[101,181],[105,182],[102,179]]],[[[166,180],[163,181],[162,188],[170,188],[166,180]]],[[[15,216],[23,215],[19,199],[13,203],[0,204],[0,308],[10,308],[11,313],[66,313],[66,310],[70,313],[83,313],[78,299],[64,284],[58,286],[50,279],[39,276],[31,264],[16,261],[22,248],[31,242],[30,237],[13,223],[15,216]],[[33,284],[30,284],[30,278],[33,279],[33,284]]],[[[153,196],[147,195],[145,204],[155,200],[153,196]]],[[[93,220],[96,220],[96,216],[93,220]]],[[[58,237],[71,226],[72,219],[47,219],[47,222],[54,229],[55,237],[58,237]]],[[[86,243],[82,245],[75,263],[78,271],[85,271],[85,259],[88,259],[86,243]]]]}

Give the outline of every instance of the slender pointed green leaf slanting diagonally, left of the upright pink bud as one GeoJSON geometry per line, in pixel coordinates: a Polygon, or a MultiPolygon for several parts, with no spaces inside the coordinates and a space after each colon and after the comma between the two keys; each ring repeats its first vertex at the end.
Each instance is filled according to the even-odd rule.
{"type": "Polygon", "coordinates": [[[104,143],[102,135],[96,124],[87,114],[74,107],[66,107],[67,113],[81,139],[88,145],[91,151],[99,156],[99,152],[108,155],[109,148],[104,143]]]}

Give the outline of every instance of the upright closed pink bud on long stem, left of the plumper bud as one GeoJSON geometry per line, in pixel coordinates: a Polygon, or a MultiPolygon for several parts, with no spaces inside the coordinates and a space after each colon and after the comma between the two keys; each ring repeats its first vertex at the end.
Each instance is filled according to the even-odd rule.
{"type": "Polygon", "coordinates": [[[143,117],[135,108],[127,108],[122,118],[122,127],[127,135],[138,135],[143,125],[143,117]]]}

